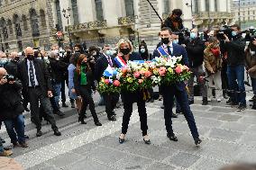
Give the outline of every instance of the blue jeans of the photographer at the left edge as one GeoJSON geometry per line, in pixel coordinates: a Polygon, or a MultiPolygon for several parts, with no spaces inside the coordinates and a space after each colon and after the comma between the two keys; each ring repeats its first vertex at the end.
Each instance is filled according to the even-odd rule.
{"type": "Polygon", "coordinates": [[[13,144],[25,142],[24,138],[24,118],[23,114],[14,119],[5,120],[5,128],[13,144]],[[18,137],[18,138],[17,138],[18,137]]]}

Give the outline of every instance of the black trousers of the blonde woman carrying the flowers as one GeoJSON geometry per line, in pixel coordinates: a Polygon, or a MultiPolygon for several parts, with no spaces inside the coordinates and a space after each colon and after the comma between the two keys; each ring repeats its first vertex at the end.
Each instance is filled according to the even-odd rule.
{"type": "MultiPolygon", "coordinates": [[[[133,96],[131,96],[133,97],[133,96]]],[[[147,135],[148,123],[147,123],[147,112],[144,101],[137,102],[138,112],[141,121],[142,136],[147,135]]],[[[123,103],[123,122],[122,122],[122,133],[126,134],[128,125],[133,112],[133,103],[123,103]]]]}

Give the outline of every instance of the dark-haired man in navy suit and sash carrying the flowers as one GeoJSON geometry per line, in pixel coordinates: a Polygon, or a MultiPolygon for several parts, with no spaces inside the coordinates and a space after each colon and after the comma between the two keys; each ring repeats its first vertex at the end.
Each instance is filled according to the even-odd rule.
{"type": "MultiPolygon", "coordinates": [[[[160,38],[163,43],[158,49],[155,49],[154,56],[161,57],[161,56],[181,56],[182,55],[182,64],[188,65],[187,59],[187,52],[182,46],[172,43],[171,39],[171,30],[167,27],[164,27],[160,31],[160,38]]],[[[184,82],[178,82],[173,85],[161,85],[160,86],[163,94],[163,104],[164,104],[164,119],[165,119],[165,126],[167,130],[167,137],[170,140],[178,141],[177,137],[173,133],[172,130],[172,121],[171,121],[171,110],[173,106],[173,97],[175,96],[178,100],[178,103],[181,106],[181,110],[184,113],[184,116],[187,120],[188,127],[191,131],[193,139],[195,140],[196,145],[202,142],[199,139],[199,134],[197,131],[197,125],[193,116],[193,113],[190,110],[188,99],[187,99],[187,92],[186,92],[186,85],[184,82]]]]}

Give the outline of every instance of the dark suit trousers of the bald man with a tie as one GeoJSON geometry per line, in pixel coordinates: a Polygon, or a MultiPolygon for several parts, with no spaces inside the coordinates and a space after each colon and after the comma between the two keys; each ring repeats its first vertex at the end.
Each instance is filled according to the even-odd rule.
{"type": "Polygon", "coordinates": [[[50,122],[52,130],[57,130],[56,121],[53,116],[52,108],[50,105],[50,100],[41,92],[41,88],[29,88],[28,89],[29,99],[31,103],[31,113],[33,121],[36,125],[37,130],[41,130],[41,120],[40,120],[40,108],[39,102],[47,119],[50,122]]]}

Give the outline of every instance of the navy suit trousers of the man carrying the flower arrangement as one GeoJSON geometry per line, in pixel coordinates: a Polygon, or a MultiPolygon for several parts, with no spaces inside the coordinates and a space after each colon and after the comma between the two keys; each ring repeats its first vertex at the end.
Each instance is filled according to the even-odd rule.
{"type": "Polygon", "coordinates": [[[184,88],[182,91],[177,89],[176,85],[167,85],[162,86],[163,93],[163,104],[164,104],[164,119],[165,119],[165,126],[167,133],[170,135],[173,134],[172,130],[172,121],[171,121],[171,109],[173,106],[173,97],[176,97],[177,102],[180,105],[181,112],[184,113],[184,116],[187,120],[188,127],[191,131],[191,134],[194,139],[199,137],[197,131],[197,125],[193,116],[193,113],[190,110],[188,99],[187,99],[187,92],[184,88]]]}

